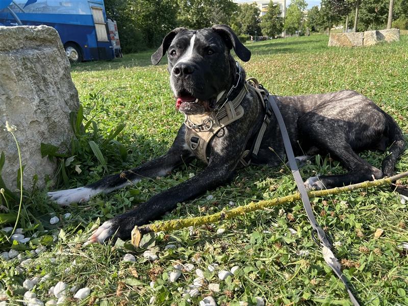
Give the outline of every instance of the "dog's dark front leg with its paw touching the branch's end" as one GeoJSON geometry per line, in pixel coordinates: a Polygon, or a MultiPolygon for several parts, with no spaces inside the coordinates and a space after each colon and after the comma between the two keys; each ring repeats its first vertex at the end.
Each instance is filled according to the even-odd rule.
{"type": "Polygon", "coordinates": [[[102,224],[89,238],[88,243],[104,242],[114,235],[128,239],[135,225],[143,225],[171,211],[177,203],[194,198],[231,180],[237,162],[213,163],[191,179],[151,197],[137,208],[116,216],[102,224]]]}

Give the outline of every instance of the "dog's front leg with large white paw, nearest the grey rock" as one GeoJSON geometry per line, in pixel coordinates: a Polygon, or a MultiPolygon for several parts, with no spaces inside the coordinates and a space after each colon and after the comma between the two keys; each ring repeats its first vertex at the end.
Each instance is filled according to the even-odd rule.
{"type": "Polygon", "coordinates": [[[185,146],[184,129],[183,124],[171,148],[159,158],[131,170],[107,175],[103,179],[84,187],[48,192],[48,196],[59,205],[81,203],[88,201],[99,193],[109,193],[127,185],[135,184],[145,177],[164,176],[183,163],[188,163],[193,157],[191,151],[185,146]]]}

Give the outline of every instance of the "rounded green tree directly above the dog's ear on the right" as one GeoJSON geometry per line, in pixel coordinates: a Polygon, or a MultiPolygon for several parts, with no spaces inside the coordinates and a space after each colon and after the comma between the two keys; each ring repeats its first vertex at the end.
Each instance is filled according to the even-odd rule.
{"type": "MultiPolygon", "coordinates": [[[[242,4],[238,8],[238,12],[235,16],[235,27],[237,28],[237,34],[249,34],[256,35],[261,33],[259,17],[261,11],[256,4],[242,4]]],[[[234,29],[235,30],[235,29],[234,29]]]]}

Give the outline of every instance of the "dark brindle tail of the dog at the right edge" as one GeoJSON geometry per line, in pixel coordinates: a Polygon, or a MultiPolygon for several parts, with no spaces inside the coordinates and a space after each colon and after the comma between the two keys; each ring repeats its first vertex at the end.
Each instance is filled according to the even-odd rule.
{"type": "MultiPolygon", "coordinates": [[[[389,122],[388,138],[391,146],[388,149],[389,155],[384,159],[384,161],[382,161],[381,168],[385,176],[392,176],[394,175],[395,163],[397,162],[398,157],[405,150],[406,143],[398,124],[390,115],[386,115],[389,122]]],[[[392,186],[398,193],[408,196],[408,188],[406,186],[397,186],[395,184],[392,186]]]]}

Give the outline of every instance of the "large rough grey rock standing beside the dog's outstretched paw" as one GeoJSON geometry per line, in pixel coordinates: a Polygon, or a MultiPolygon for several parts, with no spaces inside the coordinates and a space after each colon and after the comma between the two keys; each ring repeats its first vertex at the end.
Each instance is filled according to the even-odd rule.
{"type": "Polygon", "coordinates": [[[52,176],[55,163],[41,158],[40,143],[60,146],[72,136],[69,113],[79,108],[70,65],[54,28],[0,27],[0,152],[6,156],[2,171],[6,186],[16,188],[17,148],[4,131],[6,121],[16,126],[24,168],[24,187],[38,175],[52,176]]]}

